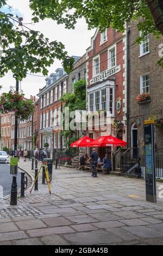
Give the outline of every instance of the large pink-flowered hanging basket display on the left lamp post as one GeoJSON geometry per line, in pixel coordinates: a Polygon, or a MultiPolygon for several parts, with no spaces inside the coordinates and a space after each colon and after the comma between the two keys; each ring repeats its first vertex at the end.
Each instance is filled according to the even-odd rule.
{"type": "Polygon", "coordinates": [[[34,111],[33,101],[24,97],[24,94],[17,92],[3,93],[0,97],[0,112],[15,112],[15,117],[28,119],[34,111]]]}

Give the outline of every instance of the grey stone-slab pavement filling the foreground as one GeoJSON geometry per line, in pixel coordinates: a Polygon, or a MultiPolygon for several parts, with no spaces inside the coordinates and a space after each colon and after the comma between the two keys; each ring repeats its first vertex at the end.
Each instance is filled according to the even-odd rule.
{"type": "Polygon", "coordinates": [[[51,196],[41,181],[0,202],[0,245],[163,245],[163,199],[146,202],[145,181],[53,167],[51,196]]]}

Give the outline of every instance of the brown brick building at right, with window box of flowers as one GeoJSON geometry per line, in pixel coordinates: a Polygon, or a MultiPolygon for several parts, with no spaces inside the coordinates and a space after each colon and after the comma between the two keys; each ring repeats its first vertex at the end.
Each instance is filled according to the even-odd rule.
{"type": "MultiPolygon", "coordinates": [[[[163,72],[157,61],[160,59],[160,45],[153,35],[147,35],[141,45],[134,44],[139,36],[136,23],[130,22],[129,50],[128,50],[128,147],[139,148],[143,153],[143,121],[152,115],[162,117],[163,109],[163,72]],[[151,100],[137,103],[136,97],[142,93],[149,93],[151,100]]],[[[156,154],[163,153],[163,133],[155,129],[156,154]]]]}

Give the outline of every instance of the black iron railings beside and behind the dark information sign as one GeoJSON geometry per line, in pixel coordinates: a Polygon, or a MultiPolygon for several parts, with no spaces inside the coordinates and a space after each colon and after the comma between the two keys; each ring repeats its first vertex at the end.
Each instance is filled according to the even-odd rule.
{"type": "MultiPolygon", "coordinates": [[[[121,157],[121,172],[137,175],[140,178],[145,178],[145,156],[135,154],[133,148],[128,149],[121,157]]],[[[163,155],[155,155],[155,173],[156,177],[163,178],[163,155]]]]}

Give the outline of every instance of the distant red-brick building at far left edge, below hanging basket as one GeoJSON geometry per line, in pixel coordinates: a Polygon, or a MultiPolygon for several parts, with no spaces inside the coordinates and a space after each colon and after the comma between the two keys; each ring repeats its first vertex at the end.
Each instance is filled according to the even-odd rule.
{"type": "Polygon", "coordinates": [[[3,147],[10,148],[10,121],[12,113],[1,114],[1,150],[3,147]]]}

